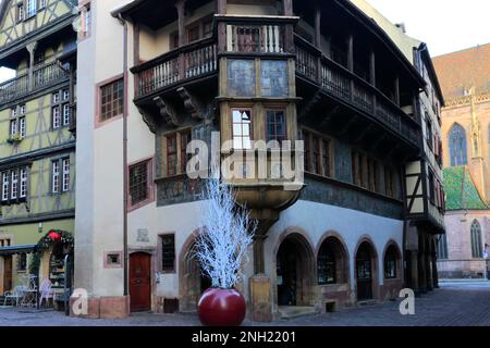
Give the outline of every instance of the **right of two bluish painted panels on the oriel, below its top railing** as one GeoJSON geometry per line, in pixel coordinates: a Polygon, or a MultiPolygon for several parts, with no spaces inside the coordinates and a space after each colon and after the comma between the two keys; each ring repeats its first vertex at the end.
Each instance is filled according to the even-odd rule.
{"type": "Polygon", "coordinates": [[[262,97],[287,97],[287,62],[262,61],[260,71],[260,88],[262,97]]]}

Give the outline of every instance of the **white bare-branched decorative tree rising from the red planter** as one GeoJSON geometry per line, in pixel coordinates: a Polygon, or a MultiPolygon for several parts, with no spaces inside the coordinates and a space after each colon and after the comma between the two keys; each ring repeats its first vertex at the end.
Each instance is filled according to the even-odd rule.
{"type": "Polygon", "coordinates": [[[212,287],[231,289],[243,276],[257,225],[245,209],[235,206],[233,190],[220,181],[208,179],[204,194],[204,228],[196,237],[194,257],[212,287]]]}

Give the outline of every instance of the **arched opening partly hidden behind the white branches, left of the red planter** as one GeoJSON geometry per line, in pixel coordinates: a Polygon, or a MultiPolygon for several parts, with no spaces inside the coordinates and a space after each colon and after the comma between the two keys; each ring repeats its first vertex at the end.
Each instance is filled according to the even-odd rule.
{"type": "Polygon", "coordinates": [[[194,257],[194,238],[188,247],[183,249],[180,266],[181,300],[180,309],[183,312],[195,312],[197,303],[204,291],[211,287],[211,279],[204,274],[199,262],[194,257]]]}

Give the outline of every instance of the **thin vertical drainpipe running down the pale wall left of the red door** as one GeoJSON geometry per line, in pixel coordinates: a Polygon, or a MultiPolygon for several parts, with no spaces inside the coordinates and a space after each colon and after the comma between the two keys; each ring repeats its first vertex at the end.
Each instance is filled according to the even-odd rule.
{"type": "Polygon", "coordinates": [[[118,14],[119,22],[123,26],[123,74],[124,74],[124,100],[123,100],[123,253],[124,253],[124,296],[128,295],[127,286],[127,23],[118,14]]]}

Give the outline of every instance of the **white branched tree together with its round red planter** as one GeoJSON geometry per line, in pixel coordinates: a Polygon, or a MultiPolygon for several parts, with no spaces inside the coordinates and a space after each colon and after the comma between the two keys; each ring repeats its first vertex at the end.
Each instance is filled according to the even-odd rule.
{"type": "Polygon", "coordinates": [[[246,306],[235,286],[243,277],[257,227],[245,209],[236,207],[232,189],[218,179],[207,182],[205,198],[195,257],[212,285],[199,299],[199,320],[208,326],[237,326],[246,306]]]}

